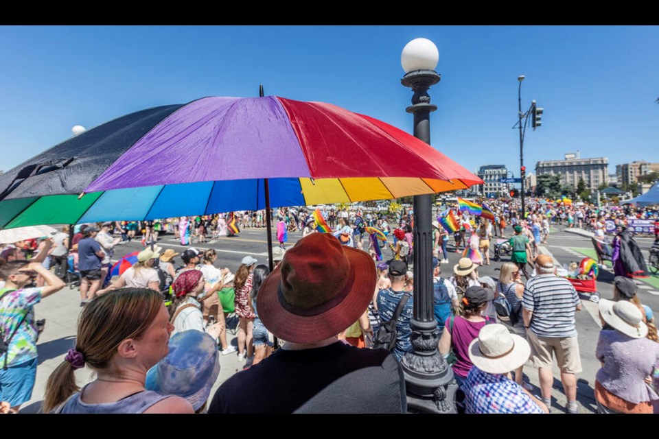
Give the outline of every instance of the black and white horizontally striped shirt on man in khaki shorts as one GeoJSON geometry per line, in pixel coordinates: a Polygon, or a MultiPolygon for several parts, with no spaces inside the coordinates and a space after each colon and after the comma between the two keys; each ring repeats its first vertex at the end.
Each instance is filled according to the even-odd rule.
{"type": "Polygon", "coordinates": [[[580,303],[575,287],[566,278],[540,274],[530,278],[522,306],[533,311],[531,331],[541,337],[576,337],[575,311],[580,303]]]}

